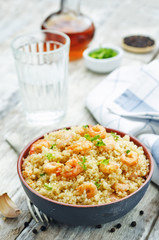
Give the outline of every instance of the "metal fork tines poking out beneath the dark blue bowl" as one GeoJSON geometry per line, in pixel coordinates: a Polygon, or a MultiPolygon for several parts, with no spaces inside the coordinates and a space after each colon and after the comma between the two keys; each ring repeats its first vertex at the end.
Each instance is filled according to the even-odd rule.
{"type": "Polygon", "coordinates": [[[39,209],[29,200],[29,198],[27,198],[26,200],[29,211],[36,223],[42,223],[46,227],[48,227],[51,219],[48,218],[43,212],[39,211],[39,209]]]}

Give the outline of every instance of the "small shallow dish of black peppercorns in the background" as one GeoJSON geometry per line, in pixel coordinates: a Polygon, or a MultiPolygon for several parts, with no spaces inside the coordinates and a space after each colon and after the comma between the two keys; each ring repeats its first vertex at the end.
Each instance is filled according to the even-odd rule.
{"type": "Polygon", "coordinates": [[[128,36],[123,39],[122,47],[129,52],[146,53],[154,49],[155,41],[147,36],[128,36]]]}

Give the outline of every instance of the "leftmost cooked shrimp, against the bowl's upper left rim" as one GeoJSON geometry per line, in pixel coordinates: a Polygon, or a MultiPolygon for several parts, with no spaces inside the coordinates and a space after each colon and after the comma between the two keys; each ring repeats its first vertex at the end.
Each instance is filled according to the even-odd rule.
{"type": "Polygon", "coordinates": [[[39,139],[31,145],[29,154],[41,153],[42,147],[49,148],[50,143],[45,139],[39,139]]]}

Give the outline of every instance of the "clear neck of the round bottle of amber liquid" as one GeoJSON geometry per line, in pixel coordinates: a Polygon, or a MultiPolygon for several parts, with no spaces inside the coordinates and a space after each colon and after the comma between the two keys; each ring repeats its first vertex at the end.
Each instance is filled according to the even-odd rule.
{"type": "Polygon", "coordinates": [[[61,0],[61,11],[64,13],[74,12],[76,15],[79,15],[80,0],[61,0]]]}

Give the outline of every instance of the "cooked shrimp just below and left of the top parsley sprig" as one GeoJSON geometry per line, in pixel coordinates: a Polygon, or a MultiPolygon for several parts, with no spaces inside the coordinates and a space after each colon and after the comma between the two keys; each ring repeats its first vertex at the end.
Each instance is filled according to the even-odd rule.
{"type": "Polygon", "coordinates": [[[72,150],[74,153],[85,154],[86,152],[91,150],[92,146],[93,146],[92,142],[83,141],[83,142],[74,143],[71,146],[69,146],[67,149],[72,150]]]}

